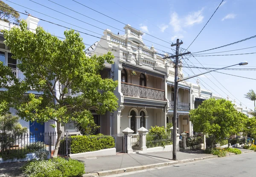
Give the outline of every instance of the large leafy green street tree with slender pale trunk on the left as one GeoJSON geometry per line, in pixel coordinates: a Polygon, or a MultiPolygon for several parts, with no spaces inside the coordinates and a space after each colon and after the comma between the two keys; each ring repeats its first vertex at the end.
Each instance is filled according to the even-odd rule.
{"type": "Polygon", "coordinates": [[[61,123],[71,119],[90,124],[93,122],[90,107],[96,108],[99,114],[118,107],[113,93],[117,81],[102,79],[99,75],[105,62],[113,64],[111,52],[89,58],[82,38],[74,30],[65,31],[65,39],[61,41],[42,27],[37,27],[35,33],[30,32],[24,20],[20,22],[20,29],[14,27],[4,30],[3,34],[13,59],[20,61],[17,67],[26,76],[24,81],[9,88],[20,93],[12,94],[20,100],[15,104],[17,114],[26,121],[41,123],[52,119],[56,122],[52,125],[57,127],[58,134],[53,156],[58,154],[61,123]],[[31,88],[43,94],[27,95],[26,91],[31,88]]]}

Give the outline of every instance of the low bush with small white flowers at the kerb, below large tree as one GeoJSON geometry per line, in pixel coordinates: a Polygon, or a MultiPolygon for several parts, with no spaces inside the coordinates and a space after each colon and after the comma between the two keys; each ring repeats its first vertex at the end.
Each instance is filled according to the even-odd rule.
{"type": "Polygon", "coordinates": [[[23,165],[21,170],[25,177],[79,177],[84,174],[84,163],[55,157],[49,160],[32,160],[23,165]]]}

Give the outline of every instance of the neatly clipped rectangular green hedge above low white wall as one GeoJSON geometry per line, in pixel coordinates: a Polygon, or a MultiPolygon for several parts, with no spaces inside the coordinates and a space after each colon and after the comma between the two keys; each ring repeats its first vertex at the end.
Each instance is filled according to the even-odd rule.
{"type": "Polygon", "coordinates": [[[72,154],[99,151],[115,147],[115,140],[112,136],[102,134],[92,136],[71,136],[70,152],[72,154]]]}

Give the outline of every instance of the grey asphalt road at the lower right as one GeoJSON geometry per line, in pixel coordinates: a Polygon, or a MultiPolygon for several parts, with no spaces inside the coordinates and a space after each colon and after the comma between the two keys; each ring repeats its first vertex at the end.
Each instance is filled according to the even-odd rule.
{"type": "Polygon", "coordinates": [[[201,160],[111,177],[245,177],[256,176],[256,153],[201,160]]]}

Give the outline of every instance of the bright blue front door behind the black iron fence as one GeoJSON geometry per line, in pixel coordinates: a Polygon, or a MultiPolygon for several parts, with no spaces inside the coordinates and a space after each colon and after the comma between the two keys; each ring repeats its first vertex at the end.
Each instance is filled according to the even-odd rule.
{"type": "Polygon", "coordinates": [[[29,121],[30,142],[44,142],[44,123],[29,121]]]}

